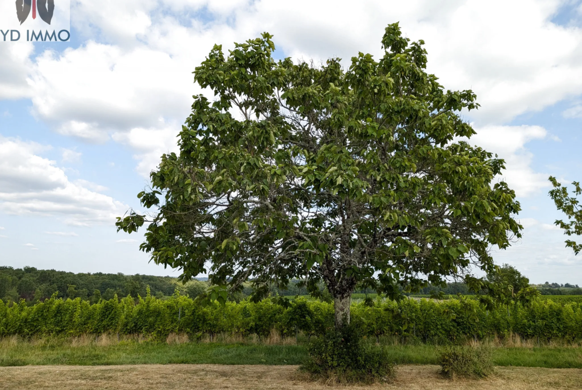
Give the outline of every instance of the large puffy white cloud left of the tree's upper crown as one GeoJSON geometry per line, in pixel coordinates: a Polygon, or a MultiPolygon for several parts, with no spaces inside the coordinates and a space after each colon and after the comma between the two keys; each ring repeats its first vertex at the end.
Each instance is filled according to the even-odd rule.
{"type": "Polygon", "coordinates": [[[58,133],[88,142],[134,127],[162,127],[164,117],[182,122],[194,93],[192,66],[167,52],[92,41],[62,55],[44,52],[30,80],[34,111],[58,133]]]}

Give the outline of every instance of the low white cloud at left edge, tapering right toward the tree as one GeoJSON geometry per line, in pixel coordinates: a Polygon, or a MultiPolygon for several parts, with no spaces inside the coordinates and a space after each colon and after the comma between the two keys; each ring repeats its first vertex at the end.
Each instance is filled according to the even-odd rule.
{"type": "MultiPolygon", "coordinates": [[[[72,183],[55,162],[35,153],[45,146],[0,137],[0,210],[52,216],[73,226],[111,224],[127,206],[72,183]]],[[[88,182],[87,182],[88,183],[88,182]]]]}

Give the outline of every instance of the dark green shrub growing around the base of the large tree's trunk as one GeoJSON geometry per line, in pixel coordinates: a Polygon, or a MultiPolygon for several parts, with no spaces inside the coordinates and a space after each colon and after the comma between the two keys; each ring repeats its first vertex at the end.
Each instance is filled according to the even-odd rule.
{"type": "Polygon", "coordinates": [[[311,341],[309,359],[301,370],[314,379],[337,382],[376,382],[394,377],[394,364],[386,349],[364,344],[354,325],[329,330],[311,341]]]}

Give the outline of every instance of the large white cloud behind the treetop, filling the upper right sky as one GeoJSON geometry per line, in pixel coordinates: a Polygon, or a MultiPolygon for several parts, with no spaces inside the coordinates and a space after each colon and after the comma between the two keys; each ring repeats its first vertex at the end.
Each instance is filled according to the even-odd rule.
{"type": "Polygon", "coordinates": [[[378,56],[385,25],[400,21],[407,37],[425,40],[429,70],[445,88],[477,93],[482,108],[471,116],[499,124],[582,92],[582,30],[549,22],[560,5],[362,1],[357,7],[329,7],[305,0],[290,8],[263,1],[241,12],[244,22],[239,21],[249,30],[254,24],[275,34],[276,43],[296,58],[338,55],[345,63],[358,51],[378,56]]]}

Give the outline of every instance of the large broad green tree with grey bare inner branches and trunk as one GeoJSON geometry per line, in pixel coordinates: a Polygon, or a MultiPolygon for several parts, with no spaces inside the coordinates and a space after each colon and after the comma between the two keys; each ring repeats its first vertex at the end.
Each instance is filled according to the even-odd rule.
{"type": "Polygon", "coordinates": [[[323,281],[335,321],[349,321],[354,289],[398,298],[446,278],[494,267],[489,249],[519,237],[519,203],[493,178],[503,160],[462,137],[475,134],[463,109],[472,91],[445,91],[427,74],[423,41],[398,23],[382,37],[384,55],[359,53],[349,69],[275,61],[272,35],[214,46],[194,71],[210,88],[194,96],[178,154],[161,158],[152,209],[119,218],[127,232],[148,221],[141,249],[189,279],[208,271],[218,287],[323,281]]]}

